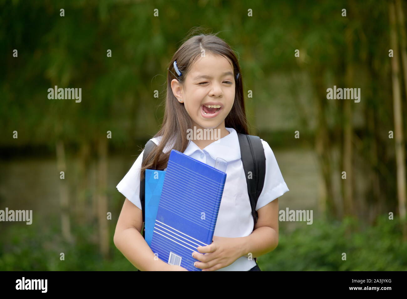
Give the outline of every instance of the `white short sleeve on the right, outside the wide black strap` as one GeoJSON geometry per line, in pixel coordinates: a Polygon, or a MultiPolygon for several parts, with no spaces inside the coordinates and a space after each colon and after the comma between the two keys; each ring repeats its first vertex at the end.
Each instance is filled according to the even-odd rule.
{"type": "Polygon", "coordinates": [[[264,155],[266,157],[266,175],[263,190],[257,201],[256,211],[274,201],[274,199],[280,197],[285,192],[290,191],[281,175],[276,157],[274,157],[269,144],[263,139],[261,139],[261,142],[263,143],[264,155]]]}

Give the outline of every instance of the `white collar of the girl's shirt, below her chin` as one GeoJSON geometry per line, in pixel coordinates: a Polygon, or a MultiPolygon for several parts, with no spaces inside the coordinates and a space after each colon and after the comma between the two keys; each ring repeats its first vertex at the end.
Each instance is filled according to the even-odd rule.
{"type": "MultiPolygon", "coordinates": [[[[237,137],[236,130],[233,128],[226,128],[226,130],[229,131],[228,135],[215,140],[202,151],[206,151],[214,160],[222,158],[226,162],[232,162],[241,159],[239,138],[237,137]]],[[[190,140],[184,154],[191,156],[195,151],[201,151],[201,149],[190,140]]]]}

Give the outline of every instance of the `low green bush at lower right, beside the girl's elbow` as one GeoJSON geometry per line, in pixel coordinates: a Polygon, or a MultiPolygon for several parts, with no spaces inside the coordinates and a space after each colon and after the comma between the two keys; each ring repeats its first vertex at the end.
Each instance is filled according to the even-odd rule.
{"type": "Polygon", "coordinates": [[[259,257],[258,264],[263,271],[406,271],[400,223],[380,216],[372,227],[361,225],[351,218],[314,220],[288,234],[280,223],[277,248],[259,257]]]}

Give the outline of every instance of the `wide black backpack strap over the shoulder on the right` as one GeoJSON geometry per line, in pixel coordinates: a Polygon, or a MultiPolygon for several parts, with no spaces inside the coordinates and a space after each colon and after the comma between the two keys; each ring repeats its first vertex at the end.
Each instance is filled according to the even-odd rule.
{"type": "MultiPolygon", "coordinates": [[[[237,133],[237,135],[239,137],[243,170],[245,171],[247,193],[252,207],[254,225],[256,225],[258,219],[256,205],[263,190],[266,175],[266,157],[260,137],[241,133],[237,133]],[[252,173],[251,178],[249,178],[249,171],[252,173]]],[[[257,263],[256,258],[254,260],[257,263]]]]}

